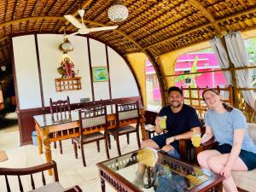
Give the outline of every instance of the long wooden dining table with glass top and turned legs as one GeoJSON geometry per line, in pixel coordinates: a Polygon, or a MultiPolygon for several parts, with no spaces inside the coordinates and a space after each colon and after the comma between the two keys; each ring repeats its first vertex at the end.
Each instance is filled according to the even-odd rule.
{"type": "MultiPolygon", "coordinates": [[[[79,109],[66,113],[66,118],[62,119],[57,119],[55,114],[52,113],[33,116],[35,121],[35,129],[37,131],[38,151],[39,154],[43,154],[44,146],[46,162],[50,162],[52,160],[50,143],[80,136],[79,109]]],[[[108,129],[113,129],[117,126],[116,113],[114,112],[113,108],[111,108],[111,110],[107,110],[107,113],[108,129]]],[[[141,134],[142,139],[144,140],[146,137],[144,109],[140,108],[139,113],[141,134]]],[[[51,170],[49,170],[49,175],[52,175],[51,170]]]]}

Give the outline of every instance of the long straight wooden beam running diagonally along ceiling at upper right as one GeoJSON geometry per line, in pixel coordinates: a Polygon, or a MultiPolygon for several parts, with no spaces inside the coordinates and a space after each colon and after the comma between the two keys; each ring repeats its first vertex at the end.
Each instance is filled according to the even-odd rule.
{"type": "MultiPolygon", "coordinates": [[[[255,11],[256,11],[256,7],[252,8],[252,9],[248,9],[248,10],[246,10],[246,11],[241,11],[241,12],[239,12],[239,13],[236,13],[235,15],[230,15],[230,16],[224,17],[224,18],[222,18],[222,19],[218,19],[218,20],[216,20],[215,22],[216,22],[216,23],[221,23],[221,22],[223,22],[224,20],[230,20],[230,19],[239,17],[239,16],[241,16],[241,15],[251,14],[251,13],[253,13],[253,12],[255,12],[255,11]]],[[[186,32],[177,34],[177,35],[175,35],[175,36],[172,36],[171,38],[166,38],[165,40],[162,40],[162,41],[160,41],[160,42],[158,42],[158,43],[150,44],[150,45],[148,45],[148,46],[146,46],[146,47],[143,47],[143,49],[149,49],[149,48],[154,47],[154,46],[156,46],[156,45],[158,45],[158,44],[164,44],[164,43],[166,43],[166,42],[168,42],[168,41],[172,41],[172,40],[175,39],[175,38],[179,38],[179,37],[181,37],[181,36],[187,35],[187,34],[189,34],[190,32],[195,32],[195,31],[201,30],[201,29],[203,29],[203,28],[206,28],[207,26],[212,26],[212,24],[211,24],[211,23],[207,23],[207,24],[204,24],[204,25],[202,25],[202,26],[197,26],[197,27],[195,27],[195,28],[193,28],[193,29],[190,29],[189,31],[186,31],[186,32]]]]}

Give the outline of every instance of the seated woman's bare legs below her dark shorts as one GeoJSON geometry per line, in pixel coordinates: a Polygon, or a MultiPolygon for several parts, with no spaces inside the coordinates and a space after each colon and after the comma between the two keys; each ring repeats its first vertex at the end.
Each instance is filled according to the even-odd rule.
{"type": "MultiPolygon", "coordinates": [[[[208,166],[210,166],[210,169],[212,172],[218,173],[221,171],[221,169],[226,165],[228,158],[230,154],[218,154],[210,157],[208,159],[208,166]]],[[[235,163],[232,166],[232,171],[247,171],[247,166],[245,163],[241,160],[240,157],[238,157],[235,161],[235,163]]],[[[232,176],[227,177],[223,181],[224,189],[229,192],[236,192],[238,191],[236,188],[236,183],[232,176]]]]}

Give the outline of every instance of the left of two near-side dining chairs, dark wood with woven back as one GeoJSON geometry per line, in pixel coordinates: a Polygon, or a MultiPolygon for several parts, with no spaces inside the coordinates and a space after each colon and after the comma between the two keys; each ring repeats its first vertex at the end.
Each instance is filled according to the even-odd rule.
{"type": "Polygon", "coordinates": [[[104,107],[90,107],[79,110],[79,133],[80,137],[73,138],[73,148],[76,159],[78,159],[78,146],[81,150],[83,165],[86,166],[84,158],[84,144],[96,142],[97,151],[100,152],[100,140],[104,140],[107,158],[108,153],[108,121],[107,110],[104,107]],[[102,133],[103,131],[103,133],[102,133]]]}

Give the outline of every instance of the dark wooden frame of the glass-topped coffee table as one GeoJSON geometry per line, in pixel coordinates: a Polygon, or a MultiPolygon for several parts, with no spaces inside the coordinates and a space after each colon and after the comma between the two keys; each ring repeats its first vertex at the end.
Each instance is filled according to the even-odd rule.
{"type": "MultiPolygon", "coordinates": [[[[137,151],[131,152],[136,153],[137,151]]],[[[129,154],[131,154],[129,153],[129,154]]],[[[159,154],[159,160],[160,162],[163,161],[171,161],[176,162],[177,166],[182,166],[185,168],[186,166],[195,166],[195,165],[189,165],[188,163],[183,162],[182,160],[175,160],[166,154],[159,154]]],[[[122,156],[125,156],[126,154],[123,154],[122,156]]],[[[116,158],[113,158],[111,160],[114,160],[116,158]]],[[[134,184],[130,183],[128,180],[126,180],[124,177],[120,176],[117,172],[113,172],[111,169],[108,168],[108,166],[105,166],[104,163],[108,160],[105,160],[101,163],[97,163],[97,166],[99,168],[99,176],[101,177],[101,185],[102,185],[102,192],[105,192],[105,182],[109,183],[113,189],[116,189],[117,191],[125,191],[125,192],[143,192],[142,189],[137,188],[134,184]]],[[[200,168],[198,166],[195,166],[197,168],[200,168]]],[[[207,191],[223,191],[223,183],[224,180],[223,176],[212,173],[212,177],[207,180],[204,183],[201,183],[199,186],[195,187],[195,189],[189,190],[190,192],[207,192],[207,191]],[[213,189],[213,190],[212,190],[213,189]]]]}

